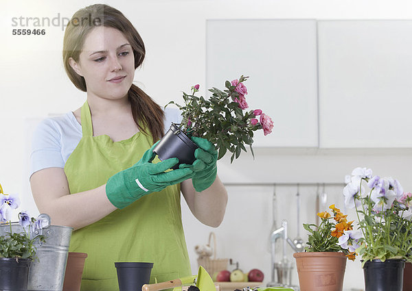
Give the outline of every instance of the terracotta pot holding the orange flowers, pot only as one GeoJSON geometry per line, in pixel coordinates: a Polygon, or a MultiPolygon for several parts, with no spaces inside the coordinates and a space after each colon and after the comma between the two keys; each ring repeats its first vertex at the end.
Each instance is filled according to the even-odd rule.
{"type": "Polygon", "coordinates": [[[342,291],[344,253],[294,253],[300,291],[342,291]]]}

